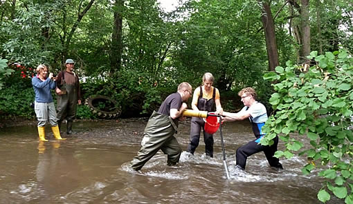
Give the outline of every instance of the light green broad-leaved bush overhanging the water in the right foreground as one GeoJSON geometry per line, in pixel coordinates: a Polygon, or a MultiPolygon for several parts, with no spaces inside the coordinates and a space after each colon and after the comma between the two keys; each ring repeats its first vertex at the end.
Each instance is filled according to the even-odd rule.
{"type": "Polygon", "coordinates": [[[306,155],[314,162],[302,168],[303,174],[324,169],[319,176],[327,181],[318,192],[320,201],[329,200],[328,190],[353,203],[353,58],[347,50],[317,53],[308,57],[314,63],[310,68],[288,61],[286,68],[264,75],[277,82],[270,99],[277,112],[266,122],[263,130],[268,134],[261,143],[270,144],[280,134],[286,150],[275,156],[306,155]],[[307,136],[311,147],[304,147],[293,133],[307,136]]]}

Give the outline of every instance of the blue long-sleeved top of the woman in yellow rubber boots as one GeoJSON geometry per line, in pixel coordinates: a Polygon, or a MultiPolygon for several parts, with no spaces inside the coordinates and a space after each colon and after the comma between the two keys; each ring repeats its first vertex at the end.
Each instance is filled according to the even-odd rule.
{"type": "Polygon", "coordinates": [[[46,81],[39,79],[38,75],[32,78],[33,89],[35,90],[35,101],[38,103],[51,103],[53,96],[51,96],[51,89],[55,89],[55,81],[46,78],[46,81]]]}

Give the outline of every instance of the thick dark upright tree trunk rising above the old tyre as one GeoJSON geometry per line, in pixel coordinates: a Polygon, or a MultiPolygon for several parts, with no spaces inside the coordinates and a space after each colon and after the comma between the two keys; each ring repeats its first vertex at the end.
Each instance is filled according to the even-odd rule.
{"type": "Polygon", "coordinates": [[[121,68],[121,59],[123,56],[123,0],[116,0],[114,5],[114,27],[111,34],[111,54],[110,66],[111,73],[121,68]]]}

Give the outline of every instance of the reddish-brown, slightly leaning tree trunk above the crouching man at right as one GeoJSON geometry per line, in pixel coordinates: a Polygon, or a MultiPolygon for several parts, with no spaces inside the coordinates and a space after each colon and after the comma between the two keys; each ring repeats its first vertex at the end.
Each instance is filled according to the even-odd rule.
{"type": "Polygon", "coordinates": [[[266,40],[267,57],[269,58],[269,70],[274,71],[278,66],[277,41],[275,39],[275,25],[271,13],[271,8],[267,2],[262,2],[262,25],[266,40]]]}

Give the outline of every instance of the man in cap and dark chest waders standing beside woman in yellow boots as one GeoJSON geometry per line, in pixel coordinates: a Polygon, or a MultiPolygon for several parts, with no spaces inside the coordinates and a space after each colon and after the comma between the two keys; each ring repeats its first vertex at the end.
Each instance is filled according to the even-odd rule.
{"type": "Polygon", "coordinates": [[[62,121],[66,119],[66,134],[73,134],[72,123],[75,119],[77,104],[81,105],[80,81],[73,72],[75,62],[66,59],[66,70],[57,74],[55,92],[57,93],[57,123],[61,130],[62,121]]]}

